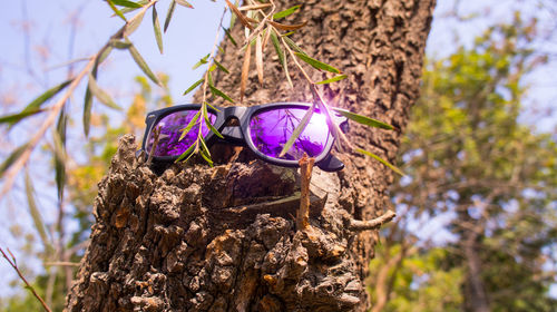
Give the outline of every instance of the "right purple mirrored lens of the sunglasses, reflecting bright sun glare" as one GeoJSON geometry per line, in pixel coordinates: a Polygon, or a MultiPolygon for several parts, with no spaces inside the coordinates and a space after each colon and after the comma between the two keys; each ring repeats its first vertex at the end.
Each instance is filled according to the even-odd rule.
{"type": "Polygon", "coordinates": [[[301,159],[304,152],[310,157],[321,155],[330,138],[329,126],[325,116],[314,111],[294,145],[278,157],[306,111],[305,108],[281,108],[255,114],[250,120],[250,136],[255,148],[270,157],[287,160],[301,159]]]}

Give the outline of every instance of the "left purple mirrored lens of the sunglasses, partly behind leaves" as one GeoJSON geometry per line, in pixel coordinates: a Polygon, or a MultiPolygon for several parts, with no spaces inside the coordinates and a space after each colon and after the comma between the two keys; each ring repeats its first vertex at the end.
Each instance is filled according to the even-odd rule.
{"type": "MultiPolygon", "coordinates": [[[[194,118],[197,110],[180,110],[173,113],[163,117],[152,129],[149,136],[146,140],[146,152],[150,154],[153,149],[153,144],[155,143],[155,133],[156,128],[160,129],[160,135],[158,138],[157,146],[153,153],[153,156],[179,156],[186,149],[195,143],[197,138],[197,134],[199,131],[199,124],[196,124],[192,129],[186,134],[186,136],[180,140],[182,130],[187,127],[189,121],[194,118]]],[[[208,113],[208,117],[211,123],[215,123],[216,116],[208,113]]],[[[202,120],[199,117],[198,120],[202,120]]],[[[205,137],[208,134],[209,129],[205,125],[205,121],[202,120],[202,134],[205,137]]]]}

